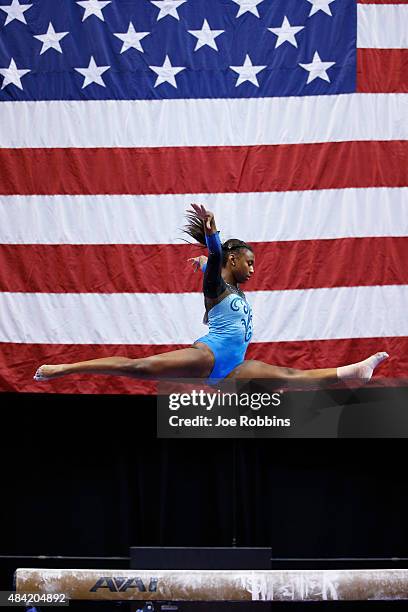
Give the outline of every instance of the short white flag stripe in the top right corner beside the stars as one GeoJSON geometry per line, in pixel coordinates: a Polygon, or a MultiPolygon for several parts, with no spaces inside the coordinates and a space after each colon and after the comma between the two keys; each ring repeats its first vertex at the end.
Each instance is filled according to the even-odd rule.
{"type": "MultiPolygon", "coordinates": [[[[408,6],[357,4],[357,47],[404,49],[408,47],[408,6]]],[[[381,79],[381,75],[378,75],[381,79]]]]}

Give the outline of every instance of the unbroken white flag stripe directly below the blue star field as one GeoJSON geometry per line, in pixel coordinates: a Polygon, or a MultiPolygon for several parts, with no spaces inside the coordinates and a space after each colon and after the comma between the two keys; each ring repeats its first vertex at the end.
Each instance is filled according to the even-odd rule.
{"type": "Polygon", "coordinates": [[[406,138],[406,94],[2,102],[2,147],[274,145],[406,138]],[[33,126],[35,126],[33,128],[33,126]],[[405,136],[404,136],[405,135],[405,136]]]}

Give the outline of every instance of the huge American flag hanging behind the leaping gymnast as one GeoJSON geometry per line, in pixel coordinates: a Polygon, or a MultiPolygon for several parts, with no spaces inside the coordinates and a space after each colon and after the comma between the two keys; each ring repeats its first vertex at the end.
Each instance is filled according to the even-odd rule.
{"type": "Polygon", "coordinates": [[[0,390],[190,345],[190,202],[254,246],[249,358],[408,372],[408,4],[0,0],[0,390]]]}

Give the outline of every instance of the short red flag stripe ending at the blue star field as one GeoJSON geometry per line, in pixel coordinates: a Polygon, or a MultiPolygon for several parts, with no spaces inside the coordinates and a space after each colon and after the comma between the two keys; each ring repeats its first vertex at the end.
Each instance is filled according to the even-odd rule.
{"type": "Polygon", "coordinates": [[[408,92],[408,49],[357,49],[357,91],[408,92]]]}

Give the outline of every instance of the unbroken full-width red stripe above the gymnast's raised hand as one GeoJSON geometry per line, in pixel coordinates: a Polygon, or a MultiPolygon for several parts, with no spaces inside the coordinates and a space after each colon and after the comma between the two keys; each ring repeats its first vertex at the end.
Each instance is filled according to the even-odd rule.
{"type": "Polygon", "coordinates": [[[408,184],[407,141],[157,149],[1,149],[0,193],[163,194],[408,184]],[[158,171],[160,169],[160,171],[158,171]]]}

